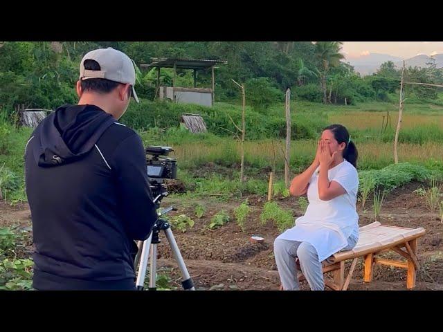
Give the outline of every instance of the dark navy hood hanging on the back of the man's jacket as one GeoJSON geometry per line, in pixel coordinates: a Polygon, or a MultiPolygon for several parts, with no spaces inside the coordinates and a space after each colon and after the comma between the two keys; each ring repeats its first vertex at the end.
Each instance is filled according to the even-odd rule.
{"type": "Polygon", "coordinates": [[[33,133],[39,141],[33,151],[37,165],[54,167],[82,158],[114,122],[109,113],[95,105],[59,107],[33,133]]]}

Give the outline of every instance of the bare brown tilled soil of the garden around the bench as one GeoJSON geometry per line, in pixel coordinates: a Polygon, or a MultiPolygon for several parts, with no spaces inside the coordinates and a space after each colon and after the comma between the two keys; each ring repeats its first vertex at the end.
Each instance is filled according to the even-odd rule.
{"type": "MultiPolygon", "coordinates": [[[[417,286],[415,290],[443,290],[443,223],[437,212],[431,213],[424,199],[413,191],[418,183],[410,183],[401,189],[391,192],[381,209],[381,223],[408,228],[423,227],[426,235],[419,240],[419,262],[417,286]]],[[[296,200],[293,198],[277,199],[279,205],[291,209],[293,216],[300,216],[296,200]]],[[[186,232],[174,230],[177,244],[186,261],[197,289],[213,290],[278,290],[280,280],[273,257],[273,240],[280,233],[271,223],[260,225],[260,212],[265,197],[249,196],[251,213],[246,221],[246,231],[242,232],[235,223],[233,210],[241,201],[225,202],[192,200],[183,203],[177,196],[165,199],[163,207],[174,205],[178,211],[173,214],[186,214],[195,220],[193,228],[186,232]],[[206,206],[206,213],[201,219],[195,217],[195,205],[206,206]],[[231,221],[216,230],[206,227],[210,218],[226,210],[231,221]],[[264,243],[250,243],[251,235],[264,237],[264,243]]],[[[368,202],[363,210],[359,203],[359,225],[367,225],[372,219],[372,203],[368,202]]],[[[0,203],[0,227],[6,225],[25,230],[28,237],[17,248],[18,257],[28,257],[32,252],[32,233],[29,232],[31,221],[28,205],[11,207],[0,203]]],[[[159,270],[167,271],[172,284],[180,287],[180,271],[162,236],[159,244],[159,270]]],[[[395,252],[386,253],[386,257],[399,259],[395,252]]],[[[374,279],[371,283],[363,282],[363,261],[359,260],[350,284],[350,290],[406,290],[406,270],[375,266],[374,279]]],[[[302,289],[309,289],[307,284],[302,289]]]]}

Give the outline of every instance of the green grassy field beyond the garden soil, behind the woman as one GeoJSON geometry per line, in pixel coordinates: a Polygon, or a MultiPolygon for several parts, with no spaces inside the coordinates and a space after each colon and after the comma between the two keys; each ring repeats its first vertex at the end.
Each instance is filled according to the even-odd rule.
{"type": "MultiPolygon", "coordinates": [[[[393,164],[392,140],[395,124],[384,133],[380,133],[379,127],[383,112],[395,109],[395,103],[386,102],[352,106],[297,100],[291,102],[291,175],[301,172],[311,163],[316,140],[323,127],[334,120],[340,120],[349,122],[352,140],[359,149],[358,169],[363,181],[365,176],[371,176],[375,179],[374,187],[384,186],[388,189],[404,185],[408,181],[422,181],[420,179],[424,177],[410,173],[411,169],[402,169],[397,174],[397,168],[390,166],[393,164]]],[[[443,126],[434,121],[440,117],[437,112],[442,110],[443,107],[435,104],[407,104],[405,126],[399,136],[401,164],[421,165],[427,169],[426,174],[430,173],[434,178],[443,178],[443,126]],[[416,122],[419,125],[414,127],[416,122]]],[[[137,129],[145,145],[170,145],[174,148],[179,178],[188,188],[188,194],[182,196],[214,195],[219,199],[228,199],[242,198],[248,194],[266,195],[269,172],[274,165],[274,193],[287,196],[287,189],[282,184],[286,135],[284,104],[274,104],[260,112],[251,107],[246,108],[248,122],[244,162],[247,181],[244,183],[239,182],[240,142],[233,138],[232,133],[224,130],[235,131],[229,116],[239,123],[239,104],[219,102],[210,108],[144,101],[138,105],[131,104],[122,122],[137,129]],[[208,133],[192,134],[180,127],[181,113],[204,114],[208,133]],[[221,127],[224,129],[220,129],[221,127]]],[[[3,196],[10,202],[26,199],[23,155],[32,130],[16,129],[8,119],[0,117],[0,188],[3,196]]],[[[406,166],[408,167],[415,166],[406,166]]]]}

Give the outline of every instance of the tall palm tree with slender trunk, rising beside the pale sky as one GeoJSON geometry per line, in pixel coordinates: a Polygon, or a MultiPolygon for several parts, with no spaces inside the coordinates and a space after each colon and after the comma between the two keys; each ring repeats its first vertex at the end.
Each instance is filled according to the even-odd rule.
{"type": "Polygon", "coordinates": [[[340,53],[343,42],[316,42],[316,57],[320,66],[320,84],[323,90],[323,102],[327,103],[326,80],[329,68],[338,66],[345,56],[340,53]]]}

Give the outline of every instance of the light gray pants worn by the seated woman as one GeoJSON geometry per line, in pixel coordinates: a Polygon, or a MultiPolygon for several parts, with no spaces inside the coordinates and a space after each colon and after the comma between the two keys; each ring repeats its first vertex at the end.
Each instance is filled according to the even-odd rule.
{"type": "MultiPolygon", "coordinates": [[[[356,241],[350,237],[348,246],[343,250],[350,250],[356,245],[356,241]]],[[[305,275],[311,291],[324,291],[323,267],[318,261],[317,250],[309,242],[275,239],[274,256],[277,263],[278,274],[284,291],[298,291],[296,257],[300,261],[300,268],[305,275]]]]}

